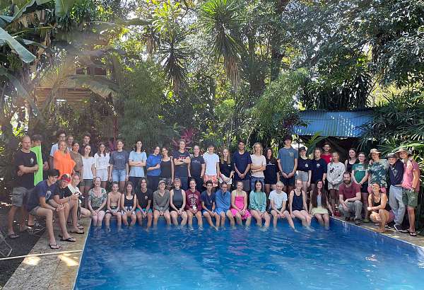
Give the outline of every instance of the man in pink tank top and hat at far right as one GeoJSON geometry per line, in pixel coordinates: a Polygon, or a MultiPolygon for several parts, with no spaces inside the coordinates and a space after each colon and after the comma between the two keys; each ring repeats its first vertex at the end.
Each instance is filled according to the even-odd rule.
{"type": "Polygon", "coordinates": [[[420,168],[413,160],[411,151],[399,148],[396,153],[404,163],[404,179],[402,180],[402,198],[406,204],[409,220],[409,235],[417,236],[415,231],[415,209],[418,206],[418,192],[420,192],[420,168]]]}

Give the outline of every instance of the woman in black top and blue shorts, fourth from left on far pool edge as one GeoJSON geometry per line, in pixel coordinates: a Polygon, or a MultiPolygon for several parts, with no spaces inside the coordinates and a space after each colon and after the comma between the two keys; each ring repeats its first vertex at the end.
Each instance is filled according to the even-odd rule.
{"type": "Polygon", "coordinates": [[[139,225],[143,224],[143,219],[147,219],[147,228],[150,228],[153,221],[153,191],[148,188],[146,178],[140,178],[139,186],[136,187],[136,196],[136,216],[139,225]]]}

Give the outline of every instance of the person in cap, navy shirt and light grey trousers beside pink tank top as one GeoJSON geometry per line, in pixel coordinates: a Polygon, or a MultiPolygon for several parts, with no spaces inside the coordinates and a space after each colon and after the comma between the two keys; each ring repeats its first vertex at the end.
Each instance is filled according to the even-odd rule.
{"type": "MultiPolygon", "coordinates": [[[[404,179],[404,163],[400,161],[396,153],[387,154],[389,161],[389,204],[394,214],[394,226],[396,231],[404,232],[401,228],[405,216],[405,204],[402,200],[402,180],[404,179]]],[[[391,227],[391,226],[389,226],[391,227]]]]}

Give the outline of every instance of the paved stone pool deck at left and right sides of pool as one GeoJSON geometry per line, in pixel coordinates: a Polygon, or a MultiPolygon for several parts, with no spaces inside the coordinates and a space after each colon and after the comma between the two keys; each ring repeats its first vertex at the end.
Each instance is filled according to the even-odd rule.
{"type": "MultiPolygon", "coordinates": [[[[338,220],[346,222],[344,219],[338,218],[338,220]]],[[[81,220],[80,224],[84,226],[85,233],[83,235],[73,235],[77,240],[76,243],[60,243],[60,252],[76,251],[75,253],[26,257],[3,289],[73,289],[81,255],[88,236],[90,220],[81,220]]],[[[349,222],[348,224],[353,223],[349,222]]],[[[377,228],[372,223],[362,224],[361,227],[370,231],[375,231],[377,228]]],[[[58,233],[59,231],[55,230],[56,236],[58,233]]],[[[398,233],[389,229],[383,235],[424,247],[424,236],[411,237],[408,233],[398,233]]],[[[57,250],[51,250],[47,243],[47,233],[44,233],[30,254],[58,252],[57,250]]]]}

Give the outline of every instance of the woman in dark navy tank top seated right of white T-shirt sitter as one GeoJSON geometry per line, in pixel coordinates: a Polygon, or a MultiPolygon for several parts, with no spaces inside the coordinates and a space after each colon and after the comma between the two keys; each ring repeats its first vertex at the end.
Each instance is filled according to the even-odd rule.
{"type": "Polygon", "coordinates": [[[311,231],[312,218],[307,212],[306,192],[302,190],[302,185],[302,180],[296,180],[295,189],[290,192],[288,204],[291,217],[293,219],[300,219],[302,226],[305,226],[305,228],[311,231]]]}

